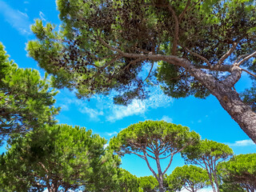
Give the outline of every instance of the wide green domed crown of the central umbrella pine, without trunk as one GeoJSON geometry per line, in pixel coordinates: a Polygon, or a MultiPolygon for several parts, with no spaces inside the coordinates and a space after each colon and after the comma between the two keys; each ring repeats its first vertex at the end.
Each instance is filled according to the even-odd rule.
{"type": "Polygon", "coordinates": [[[189,131],[186,126],[175,125],[168,122],[138,122],[120,131],[117,136],[110,139],[110,148],[119,155],[142,153],[149,148],[154,151],[165,151],[164,156],[177,152],[184,146],[198,142],[199,135],[189,131]]]}

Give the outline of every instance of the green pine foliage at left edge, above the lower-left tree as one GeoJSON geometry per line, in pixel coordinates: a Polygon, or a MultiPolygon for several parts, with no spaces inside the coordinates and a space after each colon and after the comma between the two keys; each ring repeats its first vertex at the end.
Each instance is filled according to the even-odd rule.
{"type": "Polygon", "coordinates": [[[41,78],[38,70],[18,68],[0,43],[0,139],[54,124],[56,94],[47,74],[41,78]]]}

